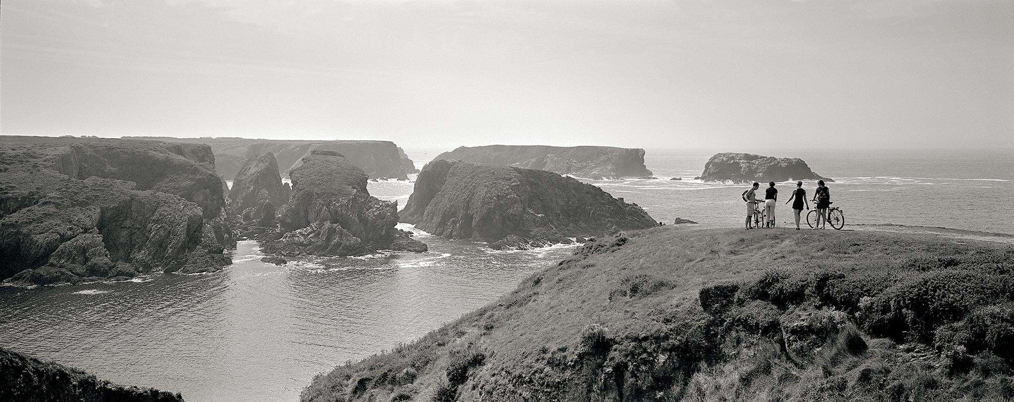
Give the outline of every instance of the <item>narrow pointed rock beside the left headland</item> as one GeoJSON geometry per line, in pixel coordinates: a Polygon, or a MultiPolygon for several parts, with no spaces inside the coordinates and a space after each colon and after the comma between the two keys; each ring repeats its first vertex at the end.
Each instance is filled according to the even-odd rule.
{"type": "Polygon", "coordinates": [[[242,215],[247,209],[258,207],[264,198],[270,199],[275,206],[281,206],[288,203],[286,192],[282,185],[282,175],[278,172],[278,161],[274,154],[268,152],[250,158],[239,169],[232,182],[232,189],[229,190],[230,207],[242,215]]]}

